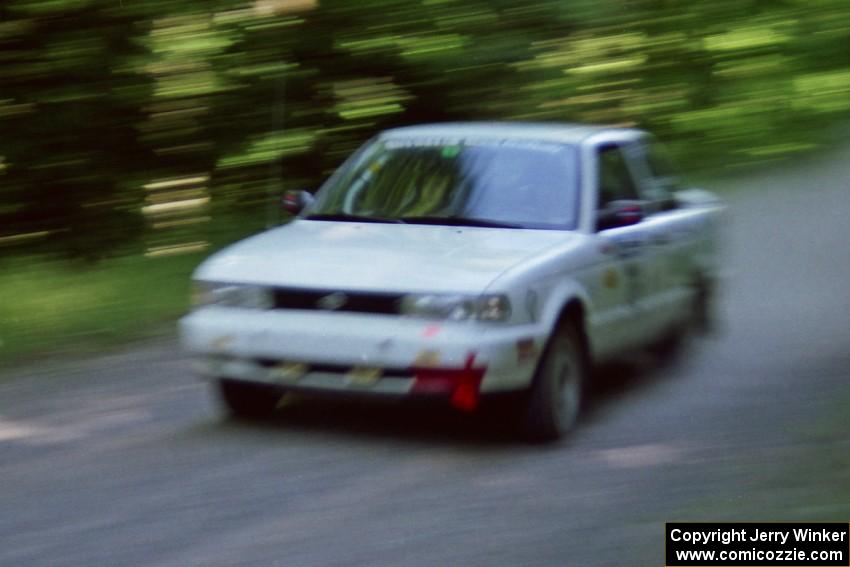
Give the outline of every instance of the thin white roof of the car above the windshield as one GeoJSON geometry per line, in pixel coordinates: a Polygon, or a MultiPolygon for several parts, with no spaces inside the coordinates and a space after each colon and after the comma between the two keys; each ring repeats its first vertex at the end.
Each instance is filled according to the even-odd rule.
{"type": "Polygon", "coordinates": [[[392,128],[381,133],[381,139],[409,138],[509,138],[579,144],[596,134],[611,134],[612,137],[635,137],[641,132],[633,128],[611,126],[544,123],[544,122],[445,122],[392,128]]]}

